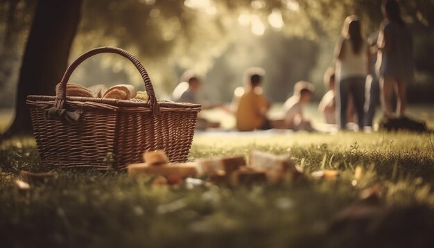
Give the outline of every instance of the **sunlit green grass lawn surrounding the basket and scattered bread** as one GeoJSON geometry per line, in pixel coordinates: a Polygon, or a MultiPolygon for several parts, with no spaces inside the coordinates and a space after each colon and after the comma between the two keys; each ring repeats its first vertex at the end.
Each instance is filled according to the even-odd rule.
{"type": "Polygon", "coordinates": [[[52,181],[20,193],[20,170],[47,168],[33,139],[10,139],[0,145],[0,247],[432,247],[433,142],[433,134],[405,132],[199,134],[191,160],[263,150],[289,154],[308,178],[188,189],[55,170],[52,181]],[[364,172],[352,186],[356,166],[364,172]],[[320,168],[341,175],[309,176],[320,168]],[[379,199],[360,200],[376,184],[379,199]]]}

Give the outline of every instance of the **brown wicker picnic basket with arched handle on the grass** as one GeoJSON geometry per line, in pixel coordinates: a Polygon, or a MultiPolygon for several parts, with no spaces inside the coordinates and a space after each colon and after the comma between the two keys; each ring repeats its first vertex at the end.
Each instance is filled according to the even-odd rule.
{"type": "Polygon", "coordinates": [[[56,96],[28,96],[33,133],[43,165],[121,170],[147,150],[162,149],[172,162],[186,161],[200,105],[157,101],[142,64],[120,48],[84,53],[68,67],[56,96]],[[71,73],[98,53],[128,58],[144,79],[148,101],[66,96],[71,73]]]}

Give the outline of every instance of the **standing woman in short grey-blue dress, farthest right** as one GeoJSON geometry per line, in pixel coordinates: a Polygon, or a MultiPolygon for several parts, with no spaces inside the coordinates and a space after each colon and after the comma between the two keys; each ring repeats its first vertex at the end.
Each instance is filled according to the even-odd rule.
{"type": "Polygon", "coordinates": [[[397,109],[399,116],[403,116],[406,110],[407,84],[413,81],[413,41],[408,26],[401,19],[398,2],[388,0],[382,7],[385,20],[380,26],[377,42],[381,103],[385,116],[392,116],[392,94],[396,87],[397,109]]]}

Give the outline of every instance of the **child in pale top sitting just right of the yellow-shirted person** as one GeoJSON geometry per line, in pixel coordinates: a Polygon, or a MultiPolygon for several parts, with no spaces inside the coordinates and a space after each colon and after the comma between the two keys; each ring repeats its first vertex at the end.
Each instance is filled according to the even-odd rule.
{"type": "Polygon", "coordinates": [[[296,82],[294,95],[284,103],[285,125],[292,130],[314,131],[311,122],[303,116],[303,106],[309,103],[315,87],[306,81],[296,82]]]}

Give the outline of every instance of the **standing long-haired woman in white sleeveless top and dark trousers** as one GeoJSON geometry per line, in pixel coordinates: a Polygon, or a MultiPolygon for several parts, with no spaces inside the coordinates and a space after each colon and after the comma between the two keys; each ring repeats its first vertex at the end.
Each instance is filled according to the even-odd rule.
{"type": "Polygon", "coordinates": [[[362,35],[361,23],[355,15],[345,19],[342,39],[338,44],[336,62],[336,117],[341,130],[347,122],[347,107],[351,96],[356,109],[359,130],[363,129],[365,78],[368,48],[362,35]]]}

